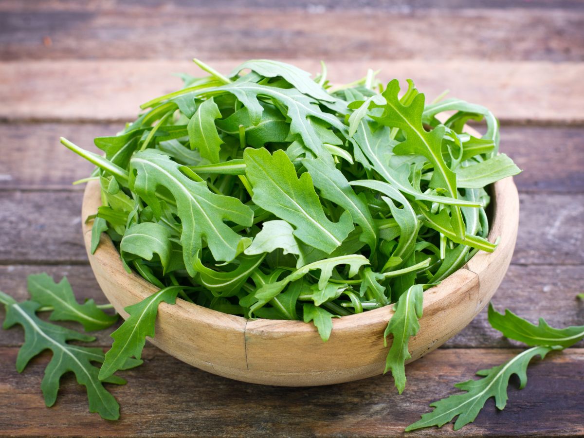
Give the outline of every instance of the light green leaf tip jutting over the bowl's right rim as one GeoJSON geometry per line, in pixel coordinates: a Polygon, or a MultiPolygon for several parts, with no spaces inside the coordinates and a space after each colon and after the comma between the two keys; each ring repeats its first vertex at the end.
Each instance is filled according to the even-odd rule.
{"type": "Polygon", "coordinates": [[[505,154],[456,170],[456,183],[465,189],[481,189],[499,179],[517,175],[521,169],[505,154]]]}

